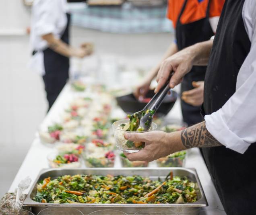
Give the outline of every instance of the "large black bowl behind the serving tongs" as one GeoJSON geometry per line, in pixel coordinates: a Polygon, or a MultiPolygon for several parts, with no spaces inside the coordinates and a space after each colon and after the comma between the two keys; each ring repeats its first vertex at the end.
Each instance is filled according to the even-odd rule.
{"type": "MultiPolygon", "coordinates": [[[[154,94],[154,90],[149,90],[149,92],[146,95],[146,98],[152,98],[154,94]]],[[[165,96],[163,103],[160,105],[155,115],[159,117],[167,115],[169,111],[171,111],[173,105],[175,104],[177,97],[177,92],[171,90],[171,94],[167,94],[165,96]]],[[[118,102],[118,105],[122,108],[122,110],[127,114],[130,114],[142,110],[146,106],[149,99],[147,99],[147,102],[141,102],[137,100],[133,94],[128,94],[116,97],[116,100],[118,102]]]]}

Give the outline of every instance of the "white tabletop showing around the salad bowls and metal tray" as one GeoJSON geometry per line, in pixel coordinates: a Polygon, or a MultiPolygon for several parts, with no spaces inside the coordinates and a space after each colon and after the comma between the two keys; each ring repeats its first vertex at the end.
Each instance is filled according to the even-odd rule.
{"type": "MultiPolygon", "coordinates": [[[[67,101],[72,100],[73,96],[74,92],[72,92],[72,90],[70,89],[70,84],[66,84],[66,86],[58,96],[56,102],[52,106],[52,109],[43,120],[41,126],[46,127],[52,122],[58,122],[58,119],[60,118],[60,113],[62,113],[64,109],[63,107],[66,106],[67,101]]],[[[118,111],[120,110],[117,110],[117,112],[118,111]]],[[[36,133],[35,139],[17,175],[15,176],[12,185],[10,186],[9,192],[14,192],[19,182],[25,177],[29,176],[31,180],[34,181],[42,168],[49,168],[46,156],[50,154],[52,150],[53,148],[41,144],[38,134],[36,133]]],[[[156,163],[151,162],[149,166],[156,167],[156,163]]],[[[115,167],[121,167],[119,158],[116,160],[115,167]]],[[[223,209],[223,205],[221,204],[217,191],[211,180],[211,176],[207,170],[207,167],[198,148],[193,148],[188,151],[185,167],[196,168],[196,171],[200,178],[200,182],[204,189],[206,199],[209,204],[208,207],[202,208],[200,215],[226,215],[223,209]]],[[[29,188],[25,192],[28,192],[29,188]]]]}

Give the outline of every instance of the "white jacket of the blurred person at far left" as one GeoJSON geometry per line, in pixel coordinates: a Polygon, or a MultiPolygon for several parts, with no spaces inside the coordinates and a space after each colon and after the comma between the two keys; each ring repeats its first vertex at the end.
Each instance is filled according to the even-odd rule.
{"type": "Polygon", "coordinates": [[[66,0],[35,0],[31,14],[30,46],[32,51],[37,51],[31,57],[29,68],[44,75],[43,50],[47,48],[47,42],[41,37],[52,33],[60,38],[67,25],[66,0]]]}

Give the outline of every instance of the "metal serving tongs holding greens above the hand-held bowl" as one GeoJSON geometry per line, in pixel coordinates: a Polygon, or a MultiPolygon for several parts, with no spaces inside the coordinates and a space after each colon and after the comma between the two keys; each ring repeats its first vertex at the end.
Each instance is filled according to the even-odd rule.
{"type": "Polygon", "coordinates": [[[134,113],[134,115],[136,115],[140,119],[140,124],[138,129],[139,131],[148,131],[150,129],[154,114],[157,112],[157,109],[162,104],[166,94],[171,89],[169,87],[169,80],[170,78],[166,82],[165,86],[163,86],[159,90],[159,92],[157,92],[153,96],[153,98],[151,98],[151,100],[145,106],[144,109],[134,113]]]}

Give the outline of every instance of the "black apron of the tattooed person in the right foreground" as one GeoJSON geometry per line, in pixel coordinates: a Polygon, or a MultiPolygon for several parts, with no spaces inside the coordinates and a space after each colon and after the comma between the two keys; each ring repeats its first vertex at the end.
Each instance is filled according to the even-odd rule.
{"type": "MultiPolygon", "coordinates": [[[[206,70],[205,115],[219,110],[235,93],[237,74],[250,51],[244,1],[225,1],[206,70]]],[[[227,215],[256,215],[256,144],[244,154],[225,146],[203,148],[203,154],[227,215]]]]}

